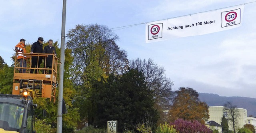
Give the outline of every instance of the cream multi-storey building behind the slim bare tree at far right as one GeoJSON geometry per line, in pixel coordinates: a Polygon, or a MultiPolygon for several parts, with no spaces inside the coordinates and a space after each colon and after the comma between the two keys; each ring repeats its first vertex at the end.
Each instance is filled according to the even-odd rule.
{"type": "MultiPolygon", "coordinates": [[[[222,116],[227,117],[227,112],[223,112],[224,106],[210,106],[209,107],[209,115],[210,118],[208,121],[215,121],[218,124],[221,124],[222,116]]],[[[242,128],[245,124],[249,123],[254,126],[256,129],[256,118],[247,117],[247,110],[238,108],[238,112],[240,117],[238,118],[238,123],[236,124],[236,129],[242,128]]],[[[233,125],[231,121],[228,121],[229,130],[233,130],[233,125]]]]}

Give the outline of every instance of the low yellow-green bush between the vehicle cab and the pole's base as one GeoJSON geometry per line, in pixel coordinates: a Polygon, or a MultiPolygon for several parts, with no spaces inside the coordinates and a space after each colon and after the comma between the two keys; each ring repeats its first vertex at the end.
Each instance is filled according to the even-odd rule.
{"type": "Polygon", "coordinates": [[[35,130],[36,133],[56,133],[56,128],[51,128],[46,119],[40,120],[36,118],[35,130]]]}

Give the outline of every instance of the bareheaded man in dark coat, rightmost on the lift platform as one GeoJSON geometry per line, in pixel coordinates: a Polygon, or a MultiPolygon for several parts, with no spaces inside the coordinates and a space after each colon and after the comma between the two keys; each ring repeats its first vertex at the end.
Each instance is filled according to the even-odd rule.
{"type": "MultiPolygon", "coordinates": [[[[44,47],[44,54],[55,54],[56,55],[56,49],[54,46],[52,46],[53,41],[50,39],[48,41],[48,45],[44,47]]],[[[52,55],[48,55],[48,57],[46,57],[46,60],[44,60],[44,66],[45,68],[52,68],[52,55]]],[[[43,71],[43,73],[46,72],[46,70],[43,71]]],[[[45,73],[44,73],[45,74],[45,73]]],[[[52,74],[52,70],[49,70],[48,74],[52,74]]]]}

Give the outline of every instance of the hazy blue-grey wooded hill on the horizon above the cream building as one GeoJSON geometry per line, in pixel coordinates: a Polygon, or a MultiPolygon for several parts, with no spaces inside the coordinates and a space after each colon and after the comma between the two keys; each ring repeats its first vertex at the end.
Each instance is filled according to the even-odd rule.
{"type": "Polygon", "coordinates": [[[256,98],[249,97],[224,97],[217,94],[198,93],[200,101],[205,101],[208,106],[223,106],[227,101],[238,108],[247,109],[247,115],[256,117],[256,98]]]}

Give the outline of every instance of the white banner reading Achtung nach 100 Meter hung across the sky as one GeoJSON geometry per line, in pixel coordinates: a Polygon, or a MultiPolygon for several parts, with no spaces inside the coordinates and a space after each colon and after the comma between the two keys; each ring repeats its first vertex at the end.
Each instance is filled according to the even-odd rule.
{"type": "Polygon", "coordinates": [[[146,43],[236,28],[242,24],[243,12],[241,5],[150,22],[146,24],[146,43]]]}

